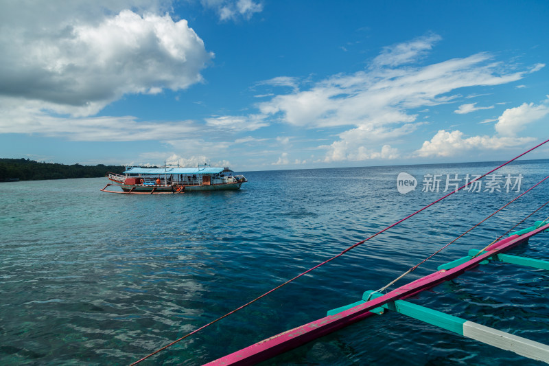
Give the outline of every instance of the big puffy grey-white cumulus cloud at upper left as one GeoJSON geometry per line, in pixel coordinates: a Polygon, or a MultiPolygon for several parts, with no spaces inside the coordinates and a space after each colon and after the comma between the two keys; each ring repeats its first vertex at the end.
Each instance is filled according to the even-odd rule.
{"type": "Polygon", "coordinates": [[[1,30],[0,95],[73,116],[93,115],[128,93],[185,89],[202,81],[200,70],[213,57],[187,21],[168,14],[121,10],[101,19],[50,19],[40,30],[13,22],[1,30]]]}

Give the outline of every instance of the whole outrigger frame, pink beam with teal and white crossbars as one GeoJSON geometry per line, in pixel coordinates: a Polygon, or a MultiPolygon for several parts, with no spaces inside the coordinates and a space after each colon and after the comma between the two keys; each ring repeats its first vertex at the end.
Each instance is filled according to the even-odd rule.
{"type": "Polygon", "coordinates": [[[330,310],[327,312],[326,317],[272,336],[243,350],[207,363],[207,365],[254,365],[367,317],[383,314],[385,310],[397,311],[503,350],[509,350],[528,358],[549,363],[549,345],[530,341],[513,334],[501,332],[484,325],[404,301],[408,297],[458,277],[465,273],[465,271],[469,271],[479,264],[486,264],[489,261],[521,264],[549,270],[548,261],[502,254],[519,244],[528,242],[530,237],[535,236],[541,231],[549,231],[548,222],[536,222],[535,226],[512,233],[508,238],[489,245],[484,251],[472,250],[467,257],[439,266],[436,272],[392,290],[389,293],[382,294],[375,291],[366,291],[362,300],[348,306],[330,310]]]}

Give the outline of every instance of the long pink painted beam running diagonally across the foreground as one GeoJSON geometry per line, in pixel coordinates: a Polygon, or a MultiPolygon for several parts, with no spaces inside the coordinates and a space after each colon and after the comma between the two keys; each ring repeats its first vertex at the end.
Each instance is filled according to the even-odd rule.
{"type": "Polygon", "coordinates": [[[286,332],[272,336],[264,341],[255,343],[254,345],[250,345],[233,354],[211,361],[210,363],[207,363],[207,365],[254,365],[255,363],[265,361],[268,358],[292,350],[293,348],[313,341],[320,336],[325,336],[326,334],[344,328],[356,321],[369,317],[373,315],[373,312],[370,312],[373,308],[387,304],[390,301],[406,299],[421,291],[441,284],[441,282],[458,277],[458,275],[463,274],[465,271],[475,268],[480,262],[487,260],[491,255],[508,251],[516,245],[528,241],[530,236],[535,236],[537,233],[546,229],[549,229],[549,224],[530,231],[529,233],[525,233],[522,236],[509,236],[509,238],[492,244],[487,248],[486,253],[478,255],[478,257],[473,258],[460,266],[456,266],[449,270],[436,271],[430,275],[421,277],[414,282],[396,288],[381,297],[377,297],[377,299],[372,299],[371,301],[344,310],[338,314],[317,319],[292,330],[287,330],[286,332]]]}

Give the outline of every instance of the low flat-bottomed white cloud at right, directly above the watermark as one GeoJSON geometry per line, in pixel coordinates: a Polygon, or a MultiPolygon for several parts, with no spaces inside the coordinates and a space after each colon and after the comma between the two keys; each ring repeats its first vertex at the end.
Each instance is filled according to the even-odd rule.
{"type": "Polygon", "coordinates": [[[453,157],[472,149],[513,148],[535,140],[531,137],[472,136],[464,138],[464,136],[465,134],[460,130],[451,132],[439,130],[430,141],[423,142],[423,146],[416,153],[419,157],[453,157]]]}

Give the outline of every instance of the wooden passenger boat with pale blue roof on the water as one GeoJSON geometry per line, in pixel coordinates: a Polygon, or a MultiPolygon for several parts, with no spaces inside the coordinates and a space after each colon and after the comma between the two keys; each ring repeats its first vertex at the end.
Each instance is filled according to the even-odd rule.
{"type": "Polygon", "coordinates": [[[122,174],[108,173],[102,192],[125,194],[180,194],[189,191],[240,190],[248,180],[243,175],[233,175],[229,168],[215,168],[209,164],[197,168],[140,168],[128,167],[122,174]],[[106,190],[115,186],[121,190],[106,190]]]}

